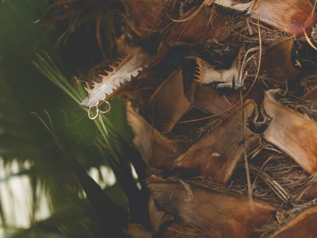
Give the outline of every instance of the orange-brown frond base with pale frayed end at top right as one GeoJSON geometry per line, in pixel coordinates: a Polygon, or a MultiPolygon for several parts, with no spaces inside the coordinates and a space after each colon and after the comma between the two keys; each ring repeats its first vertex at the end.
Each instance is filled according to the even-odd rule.
{"type": "Polygon", "coordinates": [[[230,15],[236,11],[250,15],[252,18],[260,19],[270,26],[296,36],[303,36],[304,29],[309,31],[317,21],[317,14],[313,12],[313,4],[310,0],[251,0],[248,2],[205,0],[205,3],[214,4],[222,14],[230,15]],[[312,12],[313,16],[311,16],[312,12]]]}

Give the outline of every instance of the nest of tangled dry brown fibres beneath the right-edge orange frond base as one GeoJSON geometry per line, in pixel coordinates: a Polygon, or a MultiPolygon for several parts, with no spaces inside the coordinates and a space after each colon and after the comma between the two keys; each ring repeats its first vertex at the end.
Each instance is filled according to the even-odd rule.
{"type": "MultiPolygon", "coordinates": [[[[269,202],[282,209],[291,209],[313,179],[289,156],[263,141],[248,153],[249,170],[254,194],[263,193],[269,202]],[[281,204],[282,203],[282,204],[281,204]]],[[[230,178],[234,185],[244,184],[247,177],[241,161],[230,178]]]]}

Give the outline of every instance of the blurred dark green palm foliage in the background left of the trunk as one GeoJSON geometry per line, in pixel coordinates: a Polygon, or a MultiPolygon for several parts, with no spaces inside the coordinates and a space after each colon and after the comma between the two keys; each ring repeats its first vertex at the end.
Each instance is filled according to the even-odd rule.
{"type": "MultiPolygon", "coordinates": [[[[98,202],[107,228],[112,213],[121,213],[122,224],[138,209],[132,153],[122,144],[132,133],[119,99],[111,100],[108,115],[88,119],[79,104],[89,85],[67,78],[80,78],[102,60],[95,31],[79,27],[57,51],[62,31],[33,23],[47,7],[48,0],[0,1],[0,230],[6,238],[98,238],[103,228],[92,209],[98,202]],[[48,54],[36,54],[42,51],[48,54]],[[103,190],[89,173],[105,166],[116,181],[103,190]],[[14,186],[22,180],[27,192],[17,202],[14,186]],[[17,214],[27,223],[19,225],[17,214]]],[[[107,176],[99,180],[109,184],[107,176]]]]}

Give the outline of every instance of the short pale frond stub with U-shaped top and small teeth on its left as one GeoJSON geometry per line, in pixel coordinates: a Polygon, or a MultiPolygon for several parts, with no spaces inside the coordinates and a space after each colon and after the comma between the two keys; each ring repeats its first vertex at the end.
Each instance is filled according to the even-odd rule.
{"type": "Polygon", "coordinates": [[[211,85],[216,89],[229,88],[238,90],[243,88],[241,57],[242,51],[240,51],[228,69],[216,69],[206,60],[193,57],[198,65],[196,73],[198,79],[196,81],[201,84],[211,85]]]}

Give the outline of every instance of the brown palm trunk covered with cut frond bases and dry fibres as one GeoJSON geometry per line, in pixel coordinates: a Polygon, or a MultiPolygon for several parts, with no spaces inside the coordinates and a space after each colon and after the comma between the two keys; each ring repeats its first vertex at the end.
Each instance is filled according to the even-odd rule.
{"type": "MultiPolygon", "coordinates": [[[[65,16],[59,2],[45,20],[59,6],[65,16]]],[[[85,8],[75,2],[64,3],[71,14],[85,8]]],[[[121,97],[147,164],[146,229],[126,233],[317,238],[316,1],[108,6],[121,20],[118,48],[129,50],[82,105],[121,97]]]]}

